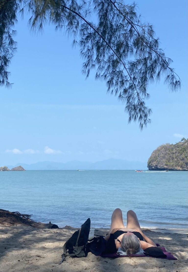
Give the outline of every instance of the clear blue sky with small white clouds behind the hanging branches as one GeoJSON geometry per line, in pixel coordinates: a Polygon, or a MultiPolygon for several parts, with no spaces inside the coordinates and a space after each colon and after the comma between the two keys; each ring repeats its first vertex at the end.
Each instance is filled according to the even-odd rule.
{"type": "Polygon", "coordinates": [[[152,123],[140,132],[138,123],[127,124],[124,105],[106,94],[94,72],[85,80],[71,38],[52,26],[42,36],[33,35],[25,16],[15,26],[18,49],[9,67],[14,85],[0,89],[0,166],[109,158],[147,162],[159,145],[187,138],[186,1],[137,3],[174,61],[181,91],[170,93],[163,81],[150,85],[146,104],[152,123]]]}

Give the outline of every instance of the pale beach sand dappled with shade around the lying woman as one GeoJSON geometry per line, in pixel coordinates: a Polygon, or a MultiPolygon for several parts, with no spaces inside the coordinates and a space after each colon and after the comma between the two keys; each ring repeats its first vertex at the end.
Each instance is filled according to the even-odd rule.
{"type": "MultiPolygon", "coordinates": [[[[0,272],[62,272],[62,271],[170,271],[185,272],[188,266],[187,234],[143,232],[156,243],[164,246],[177,260],[150,257],[102,258],[88,254],[84,258],[66,257],[61,265],[64,242],[76,229],[39,229],[25,225],[0,225],[0,272]]],[[[98,229],[96,234],[106,234],[98,229]]]]}

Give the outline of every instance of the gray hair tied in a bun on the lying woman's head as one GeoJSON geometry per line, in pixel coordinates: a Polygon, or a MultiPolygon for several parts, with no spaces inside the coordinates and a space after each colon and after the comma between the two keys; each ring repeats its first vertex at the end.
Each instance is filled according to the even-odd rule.
{"type": "Polygon", "coordinates": [[[140,243],[136,235],[125,235],[121,240],[121,250],[127,252],[127,255],[135,254],[140,250],[140,243]]]}

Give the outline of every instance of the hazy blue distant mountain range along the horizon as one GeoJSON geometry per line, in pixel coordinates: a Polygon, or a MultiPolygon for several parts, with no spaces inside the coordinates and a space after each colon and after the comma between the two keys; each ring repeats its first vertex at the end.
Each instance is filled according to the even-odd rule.
{"type": "Polygon", "coordinates": [[[127,161],[121,159],[108,159],[99,162],[80,162],[73,160],[70,162],[36,162],[32,164],[17,163],[16,165],[7,165],[9,169],[21,165],[25,170],[132,170],[147,169],[146,162],[127,161]]]}

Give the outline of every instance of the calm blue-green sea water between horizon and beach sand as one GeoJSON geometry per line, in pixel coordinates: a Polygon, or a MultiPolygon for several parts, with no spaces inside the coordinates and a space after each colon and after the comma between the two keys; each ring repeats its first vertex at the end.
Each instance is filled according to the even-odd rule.
{"type": "Polygon", "coordinates": [[[33,214],[59,227],[109,227],[115,208],[141,227],[187,228],[188,172],[38,170],[0,172],[0,208],[33,214]]]}

